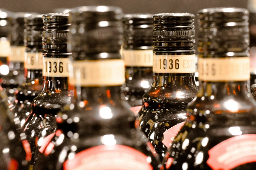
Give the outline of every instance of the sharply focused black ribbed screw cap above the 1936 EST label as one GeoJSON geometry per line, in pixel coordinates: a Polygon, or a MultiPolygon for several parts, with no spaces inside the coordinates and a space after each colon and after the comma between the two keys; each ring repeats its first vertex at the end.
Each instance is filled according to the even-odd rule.
{"type": "Polygon", "coordinates": [[[189,13],[162,13],[155,14],[153,21],[154,47],[162,46],[162,42],[177,41],[188,42],[189,46],[194,46],[195,15],[189,13]]]}

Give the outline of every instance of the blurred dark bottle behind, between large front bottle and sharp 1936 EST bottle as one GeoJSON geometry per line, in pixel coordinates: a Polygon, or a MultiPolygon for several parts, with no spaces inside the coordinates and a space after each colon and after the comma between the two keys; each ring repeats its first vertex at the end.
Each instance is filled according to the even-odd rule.
{"type": "Polygon", "coordinates": [[[152,84],[152,17],[153,14],[127,14],[123,18],[124,94],[132,107],[142,105],[142,96],[152,84]]]}

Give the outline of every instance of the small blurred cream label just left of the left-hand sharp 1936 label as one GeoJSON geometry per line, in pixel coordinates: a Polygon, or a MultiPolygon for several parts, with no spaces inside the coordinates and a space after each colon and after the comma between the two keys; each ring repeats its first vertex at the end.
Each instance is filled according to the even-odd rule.
{"type": "Polygon", "coordinates": [[[25,52],[24,66],[26,69],[42,70],[43,69],[43,53],[25,52]]]}

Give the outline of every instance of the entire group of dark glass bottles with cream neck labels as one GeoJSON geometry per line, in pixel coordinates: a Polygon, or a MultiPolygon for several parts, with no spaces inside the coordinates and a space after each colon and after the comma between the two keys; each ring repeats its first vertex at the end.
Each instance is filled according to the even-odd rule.
{"type": "Polygon", "coordinates": [[[0,169],[255,166],[246,9],[198,12],[198,59],[189,13],[85,6],[16,16],[0,169]]]}

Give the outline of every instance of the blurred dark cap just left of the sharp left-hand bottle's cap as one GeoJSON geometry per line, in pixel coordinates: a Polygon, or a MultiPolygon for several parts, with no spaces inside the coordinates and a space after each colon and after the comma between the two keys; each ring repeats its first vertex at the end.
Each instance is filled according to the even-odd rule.
{"type": "Polygon", "coordinates": [[[25,17],[24,41],[27,46],[42,48],[43,15],[30,15],[25,17]]]}

